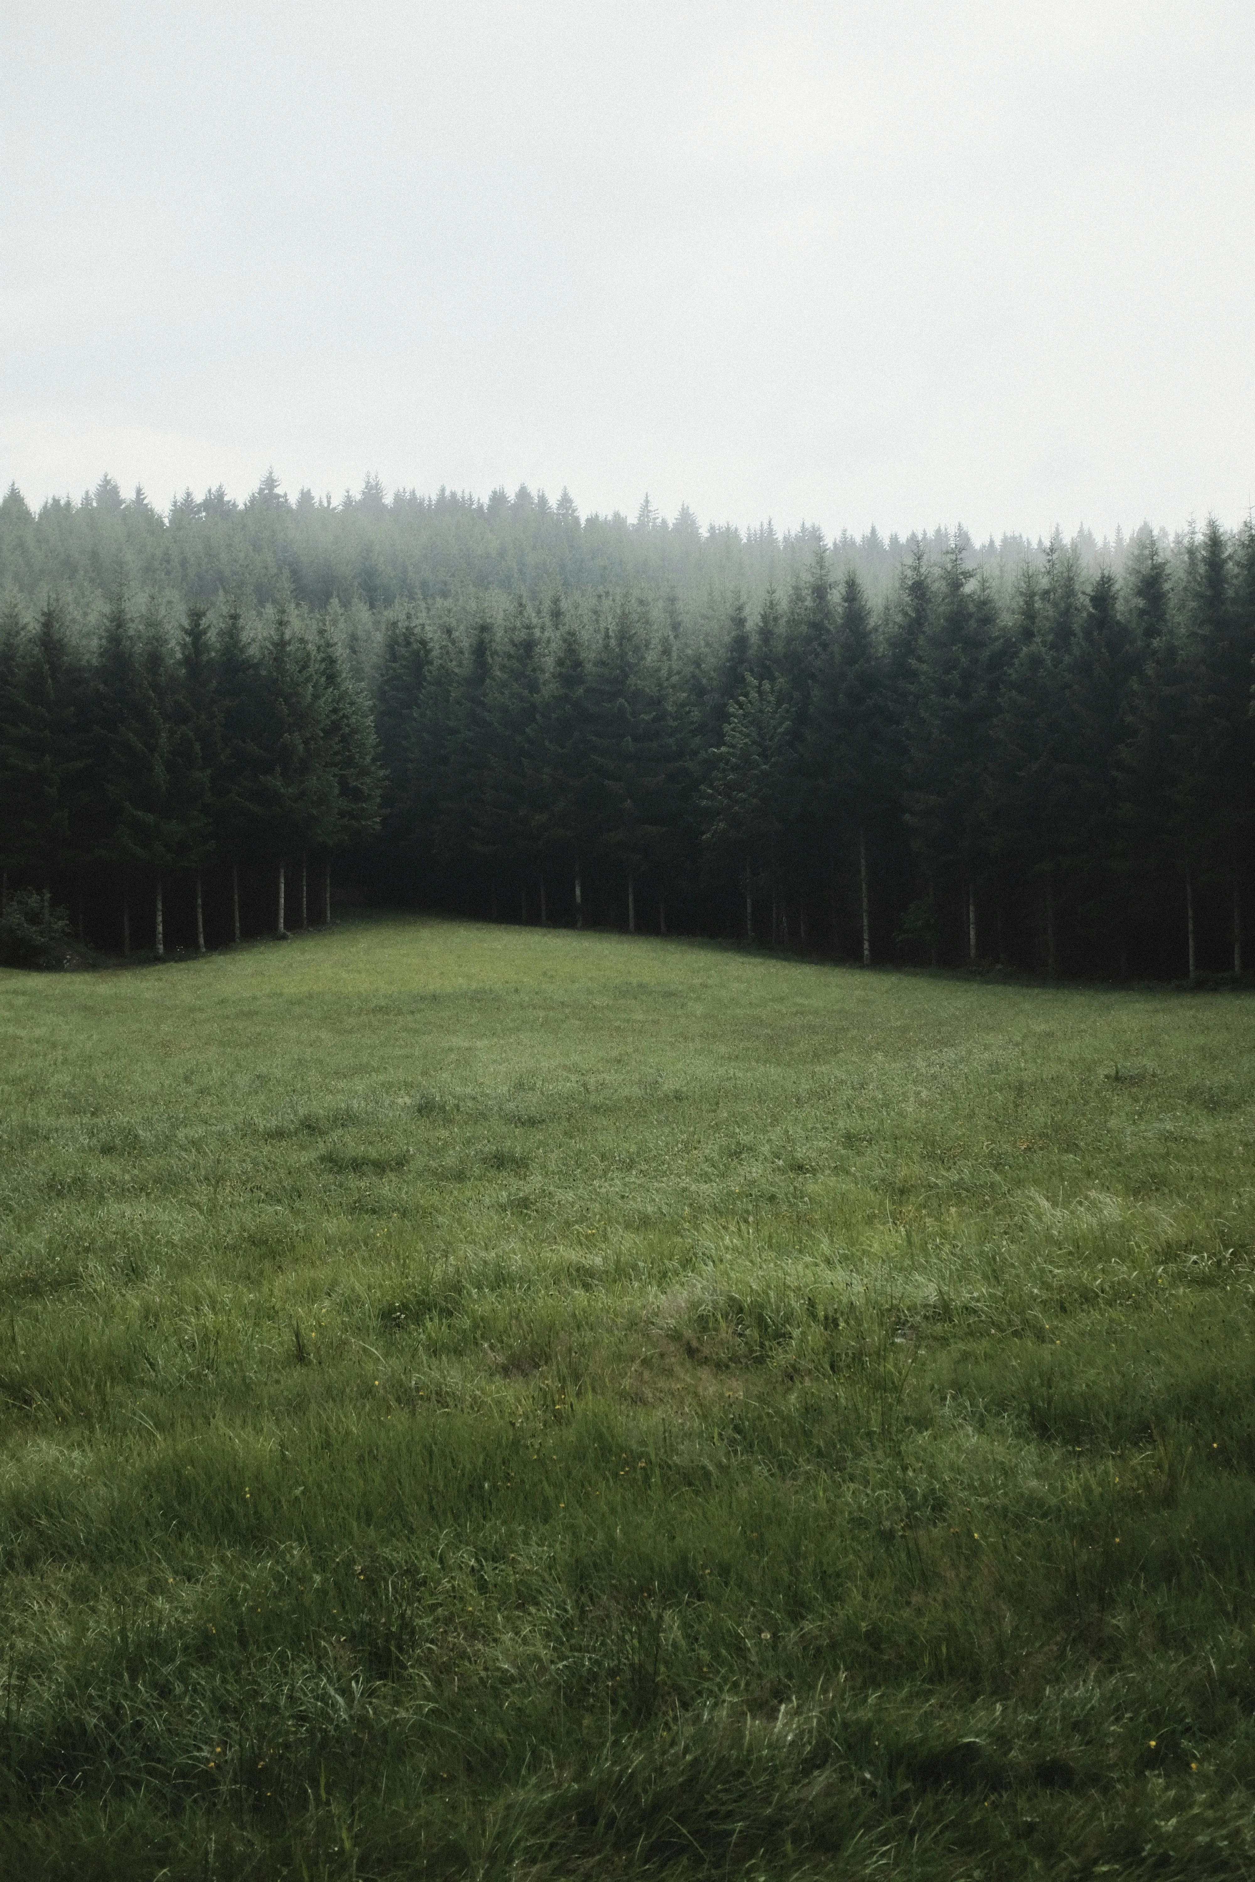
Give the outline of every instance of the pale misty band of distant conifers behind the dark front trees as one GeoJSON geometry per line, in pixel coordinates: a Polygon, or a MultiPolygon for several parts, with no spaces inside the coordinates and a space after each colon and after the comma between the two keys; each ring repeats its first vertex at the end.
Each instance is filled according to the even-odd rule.
{"type": "MultiPolygon", "coordinates": [[[[540,602],[553,589],[595,595],[625,587],[674,595],[685,608],[706,602],[711,589],[739,589],[758,606],[771,585],[786,593],[817,550],[837,580],[854,570],[879,604],[916,548],[939,559],[945,533],[886,538],[877,529],[862,536],[843,531],[828,542],[813,523],[785,531],[771,521],[702,527],[687,504],[666,518],[649,497],[634,518],[581,516],[568,491],[549,502],[527,486],[512,497],[497,489],[485,501],[448,489],[431,497],[397,489],[389,497],[378,478],[367,478],[339,501],[310,489],[290,499],[267,472],[243,502],[218,487],[201,497],[184,491],[160,510],[143,489],[124,497],[105,476],[81,499],[51,497],[38,512],[17,486],[0,499],[0,595],[41,598],[56,589],[71,612],[120,587],[181,604],[211,606],[231,595],[250,610],[284,600],[324,610],[335,600],[373,614],[465,591],[523,593],[540,602]]],[[[1120,531],[1104,548],[1084,529],[1071,542],[1088,572],[1103,553],[1120,570],[1129,548],[1120,531]]],[[[1167,536],[1161,548],[1168,548],[1167,536]]],[[[1044,544],[1003,536],[973,544],[969,553],[1003,587],[1025,561],[1042,559],[1044,544]]]]}

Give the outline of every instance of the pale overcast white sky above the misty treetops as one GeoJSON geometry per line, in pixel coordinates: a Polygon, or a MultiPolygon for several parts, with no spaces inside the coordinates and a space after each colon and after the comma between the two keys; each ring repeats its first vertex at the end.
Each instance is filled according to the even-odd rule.
{"type": "Polygon", "coordinates": [[[1251,0],[0,0],[0,486],[1236,523],[1251,0]]]}

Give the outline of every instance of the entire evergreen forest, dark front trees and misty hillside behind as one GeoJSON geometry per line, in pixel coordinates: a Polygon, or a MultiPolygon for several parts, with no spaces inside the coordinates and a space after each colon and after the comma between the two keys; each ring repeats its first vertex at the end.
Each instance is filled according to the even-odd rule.
{"type": "Polygon", "coordinates": [[[267,478],[162,516],[102,480],[36,516],[11,487],[6,907],[162,954],[327,920],[335,883],[864,964],[1242,975],[1253,657],[1249,521],[980,550],[566,493],[267,478]]]}

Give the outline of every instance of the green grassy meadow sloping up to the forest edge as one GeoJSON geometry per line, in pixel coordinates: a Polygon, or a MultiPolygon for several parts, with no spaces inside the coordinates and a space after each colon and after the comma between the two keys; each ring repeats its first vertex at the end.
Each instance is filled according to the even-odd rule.
{"type": "Polygon", "coordinates": [[[0,975],[0,1873],[1251,1876],[1255,1007],[0,975]]]}

